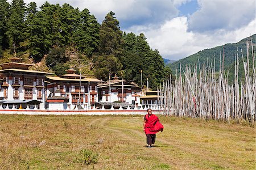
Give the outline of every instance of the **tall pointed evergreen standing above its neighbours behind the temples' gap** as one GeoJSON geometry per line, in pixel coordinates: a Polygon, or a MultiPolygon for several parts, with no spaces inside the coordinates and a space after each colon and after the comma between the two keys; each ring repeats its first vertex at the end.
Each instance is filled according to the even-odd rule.
{"type": "Polygon", "coordinates": [[[107,80],[109,74],[114,75],[122,69],[122,31],[114,15],[114,12],[110,11],[102,22],[99,46],[102,55],[93,58],[94,74],[102,80],[107,80]]]}

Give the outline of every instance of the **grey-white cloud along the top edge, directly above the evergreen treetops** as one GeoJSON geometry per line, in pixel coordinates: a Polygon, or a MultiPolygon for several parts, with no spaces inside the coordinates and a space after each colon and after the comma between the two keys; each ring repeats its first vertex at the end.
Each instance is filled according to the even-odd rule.
{"type": "MultiPolygon", "coordinates": [[[[180,0],[179,0],[180,1],[180,0]]],[[[181,0],[187,1],[187,0],[181,0]]],[[[10,0],[9,0],[10,2],[10,0]]],[[[30,3],[30,0],[25,0],[25,3],[30,3]]],[[[38,7],[46,1],[36,0],[38,7]]],[[[91,14],[96,16],[101,23],[108,12],[113,11],[123,27],[130,27],[131,25],[149,24],[149,23],[163,23],[166,19],[171,19],[177,16],[178,10],[172,1],[167,0],[48,0],[51,4],[69,3],[73,7],[78,7],[80,10],[88,8],[91,14]]]]}

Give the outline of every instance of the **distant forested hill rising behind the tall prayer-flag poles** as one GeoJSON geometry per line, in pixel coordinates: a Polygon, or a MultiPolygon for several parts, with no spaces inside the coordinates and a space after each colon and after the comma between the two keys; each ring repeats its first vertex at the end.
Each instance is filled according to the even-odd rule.
{"type": "MultiPolygon", "coordinates": [[[[250,44],[249,48],[249,57],[252,63],[252,57],[251,57],[251,41],[253,41],[253,46],[254,46],[254,53],[255,53],[255,43],[256,43],[256,34],[250,37],[247,37],[247,40],[250,44]]],[[[216,71],[219,70],[220,67],[220,57],[221,57],[221,62],[222,62],[222,57],[224,56],[224,70],[229,72],[234,72],[233,66],[234,66],[234,61],[237,55],[237,49],[238,49],[238,57],[240,57],[240,62],[242,61],[242,53],[241,49],[243,52],[243,57],[246,59],[246,39],[243,39],[237,43],[233,44],[225,44],[223,46],[217,46],[215,48],[210,48],[210,49],[205,49],[200,52],[197,52],[195,54],[192,54],[191,56],[188,56],[186,58],[180,59],[179,61],[176,61],[174,63],[169,64],[168,66],[171,68],[173,72],[177,69],[179,71],[180,64],[182,67],[187,66],[198,66],[198,63],[200,62],[200,65],[203,66],[203,64],[207,65],[207,63],[210,65],[211,62],[214,61],[215,58],[215,69],[216,71]]],[[[243,73],[243,65],[242,62],[240,64],[240,72],[241,74],[243,73]]],[[[243,73],[244,74],[244,73],[243,73]]],[[[230,78],[233,74],[230,74],[230,78]]]]}

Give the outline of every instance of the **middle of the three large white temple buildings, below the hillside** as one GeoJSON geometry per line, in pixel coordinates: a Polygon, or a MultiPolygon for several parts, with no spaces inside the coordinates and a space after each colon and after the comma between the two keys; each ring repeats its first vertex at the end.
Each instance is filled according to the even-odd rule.
{"type": "Polygon", "coordinates": [[[60,90],[61,96],[68,99],[67,109],[73,109],[77,104],[88,108],[98,102],[97,84],[101,80],[75,74],[75,69],[66,71],[67,74],[61,76],[47,76],[47,100],[60,90]]]}

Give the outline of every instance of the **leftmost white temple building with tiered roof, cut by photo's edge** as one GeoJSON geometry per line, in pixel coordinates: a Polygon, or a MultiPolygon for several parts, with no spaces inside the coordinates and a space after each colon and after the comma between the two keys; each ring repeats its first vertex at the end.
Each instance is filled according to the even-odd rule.
{"type": "Polygon", "coordinates": [[[2,67],[0,70],[0,79],[2,79],[0,98],[6,104],[16,103],[16,105],[26,103],[26,100],[37,100],[39,102],[36,103],[40,103],[38,107],[44,109],[46,104],[44,79],[51,73],[28,70],[28,67],[32,66],[31,64],[21,63],[22,59],[18,57],[10,59],[11,62],[0,64],[2,67]]]}

